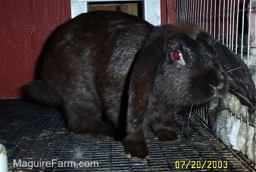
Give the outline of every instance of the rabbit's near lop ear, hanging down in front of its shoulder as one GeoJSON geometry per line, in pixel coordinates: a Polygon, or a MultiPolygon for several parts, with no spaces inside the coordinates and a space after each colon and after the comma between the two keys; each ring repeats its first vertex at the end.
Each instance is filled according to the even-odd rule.
{"type": "Polygon", "coordinates": [[[129,84],[127,109],[127,134],[134,133],[143,125],[148,96],[154,78],[163,59],[164,36],[170,26],[154,27],[137,54],[129,84]]]}

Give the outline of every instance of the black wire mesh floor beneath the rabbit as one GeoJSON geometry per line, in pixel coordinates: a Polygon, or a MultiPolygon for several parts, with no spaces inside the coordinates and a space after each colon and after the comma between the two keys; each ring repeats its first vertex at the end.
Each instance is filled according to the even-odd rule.
{"type": "Polygon", "coordinates": [[[56,108],[0,100],[0,143],[10,171],[256,171],[194,117],[189,124],[184,121],[177,117],[172,124],[181,137],[178,143],[159,142],[147,131],[150,158],[141,162],[127,159],[120,141],[72,136],[56,108]]]}

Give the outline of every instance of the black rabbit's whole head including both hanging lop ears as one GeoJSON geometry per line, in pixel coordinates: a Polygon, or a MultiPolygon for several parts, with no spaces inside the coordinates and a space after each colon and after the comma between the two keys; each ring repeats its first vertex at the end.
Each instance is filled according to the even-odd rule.
{"type": "MultiPolygon", "coordinates": [[[[150,94],[166,104],[190,106],[223,97],[228,90],[241,94],[241,102],[255,111],[255,85],[236,54],[196,25],[156,27],[132,71],[128,121],[143,121],[150,94]]],[[[128,131],[139,125],[129,125],[128,131]]]]}

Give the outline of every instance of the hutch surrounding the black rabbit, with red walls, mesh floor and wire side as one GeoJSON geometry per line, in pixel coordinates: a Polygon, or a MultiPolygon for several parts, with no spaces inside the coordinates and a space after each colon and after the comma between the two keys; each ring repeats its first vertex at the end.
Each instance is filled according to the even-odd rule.
{"type": "MultiPolygon", "coordinates": [[[[146,162],[128,159],[122,141],[72,136],[61,110],[26,101],[20,91],[33,80],[47,36],[68,19],[95,10],[123,11],[153,25],[199,25],[244,60],[255,82],[255,5],[254,0],[0,0],[0,171],[256,171],[256,157],[253,162],[212,134],[207,104],[174,118],[177,143],[157,141],[148,129],[146,162]]],[[[245,149],[256,154],[255,120],[229,108],[236,122],[252,128],[254,142],[245,149]]]]}

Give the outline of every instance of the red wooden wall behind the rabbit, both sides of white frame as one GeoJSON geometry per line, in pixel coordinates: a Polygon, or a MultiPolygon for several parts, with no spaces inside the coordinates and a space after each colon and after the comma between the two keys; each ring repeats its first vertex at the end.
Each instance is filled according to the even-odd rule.
{"type": "MultiPolygon", "coordinates": [[[[161,0],[162,23],[175,22],[175,3],[161,0]]],[[[21,97],[45,39],[70,11],[70,0],[0,0],[0,99],[21,97]]]]}

